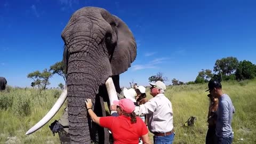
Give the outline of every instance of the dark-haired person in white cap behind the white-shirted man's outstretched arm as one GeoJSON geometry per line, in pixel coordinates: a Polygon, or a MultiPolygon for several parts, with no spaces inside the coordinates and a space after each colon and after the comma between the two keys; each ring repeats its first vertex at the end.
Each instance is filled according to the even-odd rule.
{"type": "MultiPolygon", "coordinates": [[[[135,92],[137,93],[137,95],[135,96],[135,99],[137,101],[138,106],[148,102],[147,95],[146,95],[146,88],[144,86],[141,86],[141,85],[138,86],[137,89],[135,89],[135,92]]],[[[141,114],[140,118],[142,119],[142,121],[145,122],[146,125],[148,125],[147,115],[141,114]]]]}

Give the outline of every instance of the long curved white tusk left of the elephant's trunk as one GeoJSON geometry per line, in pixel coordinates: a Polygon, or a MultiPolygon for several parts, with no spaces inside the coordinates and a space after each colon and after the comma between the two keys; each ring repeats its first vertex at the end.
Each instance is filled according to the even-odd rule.
{"type": "Polygon", "coordinates": [[[26,135],[39,130],[42,126],[44,126],[47,122],[49,122],[52,119],[52,117],[58,112],[60,107],[63,105],[63,103],[67,99],[67,93],[68,93],[68,90],[67,90],[67,85],[66,85],[64,90],[62,91],[59,99],[53,105],[52,109],[41,119],[41,121],[39,121],[37,124],[35,124],[33,127],[31,127],[31,129],[29,129],[26,132],[26,135]]]}

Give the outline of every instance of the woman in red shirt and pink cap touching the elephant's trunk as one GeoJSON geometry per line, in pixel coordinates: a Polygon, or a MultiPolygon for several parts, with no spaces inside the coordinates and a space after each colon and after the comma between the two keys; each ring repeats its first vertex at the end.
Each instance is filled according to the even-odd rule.
{"type": "Polygon", "coordinates": [[[92,110],[92,100],[85,101],[87,111],[94,123],[109,129],[114,138],[114,144],[138,144],[141,137],[143,143],[150,143],[148,129],[140,117],[133,112],[135,105],[130,99],[114,101],[119,116],[98,117],[92,110]]]}

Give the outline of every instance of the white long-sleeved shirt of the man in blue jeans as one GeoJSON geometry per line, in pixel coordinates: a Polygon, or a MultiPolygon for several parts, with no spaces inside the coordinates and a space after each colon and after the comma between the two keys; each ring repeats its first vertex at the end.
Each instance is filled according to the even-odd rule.
{"type": "Polygon", "coordinates": [[[157,94],[143,105],[135,107],[135,114],[146,114],[151,133],[170,132],[173,129],[172,103],[164,94],[157,94]]]}

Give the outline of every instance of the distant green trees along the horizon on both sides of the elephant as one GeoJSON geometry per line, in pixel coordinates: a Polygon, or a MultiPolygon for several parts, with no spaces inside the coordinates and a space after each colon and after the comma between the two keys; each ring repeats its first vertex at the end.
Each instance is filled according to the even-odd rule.
{"type": "MultiPolygon", "coordinates": [[[[210,69],[202,69],[198,72],[195,81],[181,82],[179,79],[173,78],[172,85],[183,85],[183,84],[198,84],[207,83],[211,78],[220,79],[220,81],[237,80],[242,81],[245,79],[253,79],[256,77],[256,65],[251,61],[243,60],[238,61],[235,57],[227,57],[218,59],[213,67],[213,72],[210,69]],[[214,72],[214,73],[213,73],[214,72]]],[[[50,85],[50,78],[58,74],[63,78],[65,83],[67,82],[67,74],[65,66],[62,61],[54,63],[50,66],[50,69],[44,69],[43,71],[36,70],[27,75],[28,78],[32,79],[31,86],[37,86],[39,90],[45,90],[47,85],[50,85]]],[[[166,82],[169,79],[158,72],[156,75],[152,75],[148,78],[149,82],[162,81],[166,82]]],[[[60,83],[58,85],[60,89],[63,89],[64,85],[60,83]]]]}

